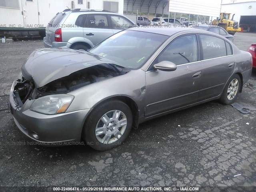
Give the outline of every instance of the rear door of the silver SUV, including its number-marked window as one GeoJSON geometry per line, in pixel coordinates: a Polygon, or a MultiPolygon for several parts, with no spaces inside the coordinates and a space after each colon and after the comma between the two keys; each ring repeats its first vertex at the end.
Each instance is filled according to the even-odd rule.
{"type": "Polygon", "coordinates": [[[114,34],[106,14],[88,14],[84,23],[84,38],[96,45],[114,34]]]}

